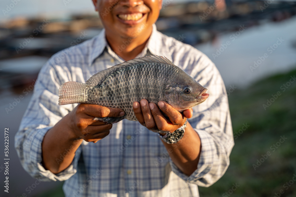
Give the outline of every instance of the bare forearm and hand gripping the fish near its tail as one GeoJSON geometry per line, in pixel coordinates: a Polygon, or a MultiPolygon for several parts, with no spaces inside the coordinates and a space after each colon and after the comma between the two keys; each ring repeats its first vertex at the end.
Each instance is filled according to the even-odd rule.
{"type": "Polygon", "coordinates": [[[45,134],[42,142],[44,168],[55,174],[62,172],[73,161],[75,152],[83,140],[95,143],[109,134],[112,124],[94,121],[94,117],[123,115],[124,111],[119,108],[91,104],[77,105],[45,134]],[[65,153],[67,153],[66,156],[65,153]],[[57,162],[61,155],[64,156],[63,159],[57,162]]]}

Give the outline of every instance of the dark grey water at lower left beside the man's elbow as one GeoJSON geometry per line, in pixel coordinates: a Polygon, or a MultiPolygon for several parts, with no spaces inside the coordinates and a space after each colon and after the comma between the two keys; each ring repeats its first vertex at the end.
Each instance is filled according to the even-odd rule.
{"type": "MultiPolygon", "coordinates": [[[[16,95],[10,91],[0,93],[0,141],[2,150],[4,151],[4,128],[9,128],[9,193],[4,192],[3,185],[0,191],[0,196],[22,196],[25,193],[26,196],[38,196],[39,193],[55,188],[60,182],[39,182],[37,179],[30,177],[30,175],[22,168],[20,160],[18,159],[17,152],[14,148],[14,137],[20,125],[21,118],[25,113],[28,106],[31,93],[28,95],[22,94],[24,97],[19,100],[18,103],[15,99],[19,98],[20,95],[16,95]],[[14,103],[15,102],[15,103],[14,103]],[[10,106],[12,104],[13,106],[10,106]],[[9,109],[9,110],[7,110],[9,109]],[[10,110],[11,109],[11,110],[10,110]],[[38,184],[37,186],[35,184],[38,184]],[[31,187],[31,189],[30,189],[31,187]]],[[[4,183],[3,167],[4,165],[4,154],[1,156],[2,162],[0,163],[0,181],[4,183]]]]}

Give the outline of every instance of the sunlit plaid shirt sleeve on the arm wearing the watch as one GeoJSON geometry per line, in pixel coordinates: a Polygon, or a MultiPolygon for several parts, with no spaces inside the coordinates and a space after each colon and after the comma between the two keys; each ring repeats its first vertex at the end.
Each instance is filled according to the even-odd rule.
{"type": "MultiPolygon", "coordinates": [[[[234,146],[233,131],[225,85],[218,69],[205,55],[185,71],[208,89],[208,99],[193,108],[188,119],[201,141],[200,159],[190,176],[185,175],[170,159],[173,172],[187,183],[209,187],[219,180],[229,166],[229,155],[234,146]]],[[[232,86],[234,89],[234,87],[232,86]]],[[[231,90],[233,91],[233,90],[231,90]]]]}

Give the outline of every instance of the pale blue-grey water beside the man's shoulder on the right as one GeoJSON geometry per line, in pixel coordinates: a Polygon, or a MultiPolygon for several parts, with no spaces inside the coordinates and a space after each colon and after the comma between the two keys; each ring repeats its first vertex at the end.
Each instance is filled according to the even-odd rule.
{"type": "Polygon", "coordinates": [[[235,32],[226,33],[220,35],[214,45],[205,43],[196,48],[215,63],[226,86],[244,88],[263,77],[296,69],[296,48],[292,46],[296,42],[295,31],[296,17],[293,17],[282,22],[248,27],[237,33],[240,34],[237,38],[231,37],[235,32]],[[230,45],[226,44],[227,41],[230,45]],[[227,45],[227,48],[221,49],[221,45],[227,45]],[[270,48],[273,45],[276,47],[274,50],[270,48]],[[221,49],[221,54],[213,56],[217,54],[217,49],[221,49]],[[258,64],[255,65],[257,68],[254,61],[258,64]]]}

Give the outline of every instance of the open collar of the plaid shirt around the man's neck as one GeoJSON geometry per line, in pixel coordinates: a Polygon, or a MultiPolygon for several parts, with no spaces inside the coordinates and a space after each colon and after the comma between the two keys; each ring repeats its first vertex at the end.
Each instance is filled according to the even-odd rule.
{"type": "MultiPolygon", "coordinates": [[[[138,57],[145,56],[147,53],[152,54],[152,55],[160,55],[162,56],[163,54],[160,51],[160,44],[162,43],[161,36],[159,35],[160,32],[156,30],[156,25],[152,25],[152,33],[149,37],[149,40],[143,49],[141,53],[139,53],[138,57]]],[[[91,54],[89,56],[89,65],[91,66],[94,60],[99,57],[105,48],[107,48],[108,53],[118,59],[120,62],[123,62],[123,60],[118,57],[114,51],[110,48],[110,46],[107,43],[106,37],[105,37],[105,29],[103,29],[99,35],[97,35],[94,38],[93,45],[91,46],[91,54]]]]}

